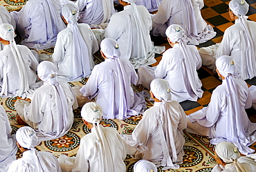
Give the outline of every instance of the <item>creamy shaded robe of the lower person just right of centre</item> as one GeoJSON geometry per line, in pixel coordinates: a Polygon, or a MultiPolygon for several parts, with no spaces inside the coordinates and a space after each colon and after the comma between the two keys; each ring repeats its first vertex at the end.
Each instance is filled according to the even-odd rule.
{"type": "Polygon", "coordinates": [[[178,102],[166,102],[166,106],[166,113],[159,113],[159,111],[163,111],[163,102],[155,102],[152,108],[145,111],[143,119],[140,120],[132,135],[122,135],[129,146],[138,149],[134,155],[136,159],[149,160],[154,162],[156,166],[161,166],[164,147],[161,144],[160,127],[163,127],[164,138],[162,139],[167,144],[172,162],[182,163],[185,143],[183,129],[187,127],[186,115],[178,102]],[[163,126],[159,126],[159,119],[164,123],[163,126]],[[174,147],[176,155],[173,155],[174,147]]]}

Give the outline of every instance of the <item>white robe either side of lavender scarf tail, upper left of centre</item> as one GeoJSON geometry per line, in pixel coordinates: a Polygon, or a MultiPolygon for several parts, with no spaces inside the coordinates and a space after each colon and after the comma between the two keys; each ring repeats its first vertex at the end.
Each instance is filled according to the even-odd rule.
{"type": "MultiPolygon", "coordinates": [[[[81,35],[88,48],[90,61],[87,61],[87,62],[91,65],[91,70],[92,70],[94,66],[93,53],[95,53],[99,49],[98,41],[93,35],[91,28],[87,24],[84,24],[84,23],[77,24],[77,27],[80,30],[81,35]]],[[[67,81],[68,77],[73,76],[72,74],[73,71],[71,70],[71,66],[73,66],[72,64],[73,59],[71,57],[72,46],[73,46],[73,37],[72,37],[71,27],[68,27],[62,30],[57,35],[57,42],[52,55],[54,63],[57,64],[59,80],[64,79],[67,81]]]]}

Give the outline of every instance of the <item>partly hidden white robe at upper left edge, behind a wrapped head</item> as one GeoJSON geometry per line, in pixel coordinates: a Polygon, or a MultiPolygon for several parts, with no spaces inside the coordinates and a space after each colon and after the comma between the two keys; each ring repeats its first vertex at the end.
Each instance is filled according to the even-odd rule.
{"type": "MultiPolygon", "coordinates": [[[[13,28],[16,28],[15,20],[4,6],[0,6],[0,24],[2,23],[9,23],[13,26],[13,28]]],[[[0,42],[0,50],[3,50],[3,46],[4,45],[0,42]]]]}

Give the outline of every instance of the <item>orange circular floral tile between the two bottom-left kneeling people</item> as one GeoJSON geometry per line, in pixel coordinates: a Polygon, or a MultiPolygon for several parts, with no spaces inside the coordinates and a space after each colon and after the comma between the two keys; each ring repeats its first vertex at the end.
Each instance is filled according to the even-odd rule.
{"type": "Polygon", "coordinates": [[[65,152],[71,151],[80,144],[80,137],[75,133],[68,132],[66,135],[57,138],[55,140],[45,141],[46,147],[51,151],[55,152],[65,152]]]}

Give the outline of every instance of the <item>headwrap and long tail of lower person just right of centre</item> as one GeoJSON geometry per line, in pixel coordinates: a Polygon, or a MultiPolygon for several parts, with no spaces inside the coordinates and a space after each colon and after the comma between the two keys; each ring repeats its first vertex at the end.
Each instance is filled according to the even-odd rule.
{"type": "Polygon", "coordinates": [[[172,124],[168,123],[172,121],[172,119],[170,119],[171,117],[170,115],[167,115],[166,117],[164,117],[164,115],[167,114],[166,102],[172,101],[171,99],[172,95],[170,93],[171,90],[170,90],[169,83],[165,79],[160,79],[160,78],[154,79],[150,83],[150,90],[152,91],[153,95],[157,99],[163,102],[163,108],[162,108],[163,111],[161,110],[158,111],[158,119],[157,119],[158,126],[162,126],[160,127],[160,136],[159,136],[161,138],[161,144],[163,149],[162,150],[163,160],[161,162],[162,163],[161,166],[165,166],[163,170],[179,169],[179,165],[173,163],[173,162],[176,162],[177,160],[177,153],[176,153],[176,146],[175,146],[174,140],[170,139],[170,138],[174,138],[172,124]],[[172,148],[172,155],[170,155],[167,145],[170,145],[170,147],[172,148]]]}

